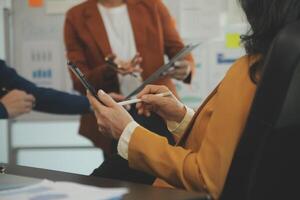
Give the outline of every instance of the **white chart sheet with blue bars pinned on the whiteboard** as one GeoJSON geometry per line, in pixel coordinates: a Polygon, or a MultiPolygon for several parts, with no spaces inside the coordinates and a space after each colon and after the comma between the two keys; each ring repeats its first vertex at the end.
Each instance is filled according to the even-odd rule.
{"type": "Polygon", "coordinates": [[[27,41],[22,46],[21,74],[38,86],[61,89],[60,46],[56,41],[27,41]]]}

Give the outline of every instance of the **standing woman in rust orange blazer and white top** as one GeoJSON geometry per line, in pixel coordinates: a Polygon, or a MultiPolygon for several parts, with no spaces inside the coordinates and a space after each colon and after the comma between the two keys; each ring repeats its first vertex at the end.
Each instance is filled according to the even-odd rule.
{"type": "MultiPolygon", "coordinates": [[[[184,47],[161,0],[87,0],[67,12],[64,38],[67,58],[77,64],[97,90],[125,96],[122,87],[135,80],[129,84],[120,80],[105,64],[107,56],[115,54],[124,63],[139,53],[141,79],[145,80],[164,64],[165,55],[172,58],[184,47]]],[[[191,76],[186,75],[193,71],[193,59],[188,56],[186,61],[182,62],[183,71],[175,70],[155,84],[166,85],[176,94],[172,78],[191,82],[191,76]]],[[[75,90],[85,94],[80,81],[72,73],[71,77],[75,90]]],[[[82,116],[79,132],[107,154],[111,153],[111,139],[98,131],[93,114],[82,116]]]]}

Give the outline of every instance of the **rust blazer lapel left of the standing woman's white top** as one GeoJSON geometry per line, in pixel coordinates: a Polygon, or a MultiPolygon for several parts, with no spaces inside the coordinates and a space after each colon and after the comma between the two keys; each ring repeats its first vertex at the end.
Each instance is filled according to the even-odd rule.
{"type": "Polygon", "coordinates": [[[88,31],[102,50],[104,56],[112,54],[104,22],[98,10],[97,0],[89,0],[89,4],[85,11],[85,17],[88,31]]]}

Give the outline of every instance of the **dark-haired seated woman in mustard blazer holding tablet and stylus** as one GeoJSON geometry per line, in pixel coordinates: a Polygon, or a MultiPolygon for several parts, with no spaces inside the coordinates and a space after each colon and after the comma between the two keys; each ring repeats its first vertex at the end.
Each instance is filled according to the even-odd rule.
{"type": "Polygon", "coordinates": [[[251,25],[251,31],[242,37],[247,55],[233,64],[196,113],[174,96],[155,96],[169,91],[164,86],[148,86],[139,94],[143,101],[137,105],[139,112],[154,111],[164,118],[177,146],[168,145],[164,138],[137,124],[103,91],[99,97],[105,105],[89,96],[98,125],[120,138],[119,154],[131,168],[157,177],[155,186],[205,189],[215,199],[223,190],[268,49],[281,29],[300,19],[299,0],[240,3],[251,25]]]}

